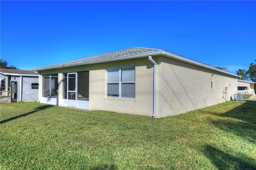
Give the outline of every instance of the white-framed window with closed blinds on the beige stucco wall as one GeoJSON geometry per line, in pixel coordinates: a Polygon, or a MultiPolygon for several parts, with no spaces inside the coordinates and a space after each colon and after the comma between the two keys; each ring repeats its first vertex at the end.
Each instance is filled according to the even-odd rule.
{"type": "Polygon", "coordinates": [[[107,97],[135,98],[135,68],[107,70],[107,97]]]}

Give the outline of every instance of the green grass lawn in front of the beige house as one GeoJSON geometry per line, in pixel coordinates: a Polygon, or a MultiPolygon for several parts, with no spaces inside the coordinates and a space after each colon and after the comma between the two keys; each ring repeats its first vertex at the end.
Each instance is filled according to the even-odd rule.
{"type": "Polygon", "coordinates": [[[256,103],[154,119],[0,105],[1,169],[256,169],[256,103]]]}

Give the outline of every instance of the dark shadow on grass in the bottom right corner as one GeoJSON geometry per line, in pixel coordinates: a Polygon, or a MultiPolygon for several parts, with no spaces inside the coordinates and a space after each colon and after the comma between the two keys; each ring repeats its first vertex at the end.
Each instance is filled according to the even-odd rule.
{"type": "Polygon", "coordinates": [[[255,160],[249,158],[241,153],[240,157],[227,154],[224,151],[217,149],[211,145],[205,146],[205,156],[207,156],[211,162],[218,169],[256,169],[255,160]]]}

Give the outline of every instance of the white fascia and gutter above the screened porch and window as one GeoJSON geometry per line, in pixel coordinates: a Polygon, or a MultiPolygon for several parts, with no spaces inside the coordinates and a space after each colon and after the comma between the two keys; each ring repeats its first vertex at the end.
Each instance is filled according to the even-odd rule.
{"type": "Polygon", "coordinates": [[[111,61],[127,60],[127,59],[132,59],[132,58],[142,58],[142,57],[148,57],[149,55],[161,55],[161,54],[162,54],[162,50],[158,50],[156,52],[148,52],[148,53],[142,53],[142,54],[136,54],[136,55],[126,55],[126,56],[122,56],[122,57],[114,57],[114,58],[97,60],[97,61],[72,63],[72,64],[63,64],[63,65],[52,66],[52,67],[49,66],[49,67],[45,67],[45,68],[42,68],[42,69],[33,69],[31,71],[58,69],[58,68],[62,68],[62,67],[69,67],[69,66],[76,66],[76,65],[87,65],[87,64],[105,63],[105,62],[111,62],[111,61]]]}

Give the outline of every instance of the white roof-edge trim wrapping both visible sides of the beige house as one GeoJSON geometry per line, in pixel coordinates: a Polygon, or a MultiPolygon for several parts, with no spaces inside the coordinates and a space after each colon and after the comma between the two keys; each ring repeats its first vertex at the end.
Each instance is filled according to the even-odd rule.
{"type": "Polygon", "coordinates": [[[89,62],[79,62],[79,63],[72,63],[72,64],[63,64],[60,66],[49,66],[49,67],[45,67],[45,68],[38,68],[38,69],[33,69],[32,71],[38,71],[38,70],[49,70],[49,69],[58,69],[58,68],[62,68],[62,67],[68,67],[68,66],[75,66],[75,65],[86,65],[86,64],[95,64],[95,63],[104,63],[104,62],[111,62],[111,61],[119,61],[119,60],[127,60],[127,59],[132,59],[132,58],[142,58],[142,57],[148,57],[148,56],[153,56],[153,55],[164,55],[166,57],[170,57],[173,58],[174,60],[179,60],[182,62],[186,62],[189,64],[193,64],[193,65],[197,65],[200,67],[204,67],[205,69],[209,69],[209,70],[214,70],[217,72],[221,72],[224,74],[228,74],[228,75],[232,75],[234,77],[240,78],[239,75],[227,72],[227,71],[223,71],[220,69],[217,69],[213,66],[204,64],[204,63],[200,63],[197,62],[195,60],[191,60],[189,58],[180,56],[178,54],[174,54],[174,53],[170,53],[167,52],[165,50],[157,50],[156,52],[147,52],[147,53],[141,53],[141,54],[136,54],[136,55],[126,55],[126,56],[122,56],[122,57],[113,57],[113,58],[108,58],[108,59],[103,59],[103,60],[97,60],[97,61],[89,61],[89,62]]]}

